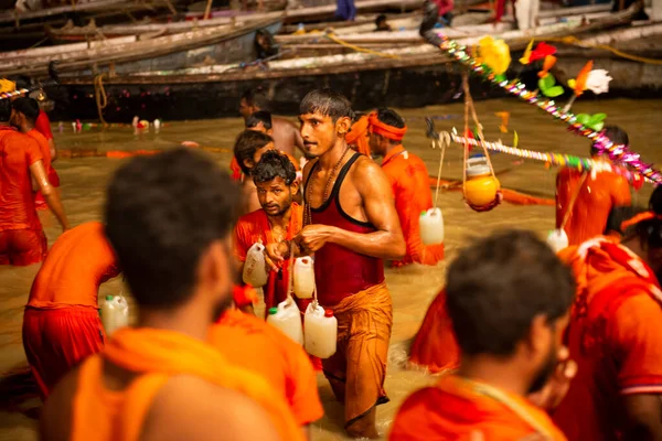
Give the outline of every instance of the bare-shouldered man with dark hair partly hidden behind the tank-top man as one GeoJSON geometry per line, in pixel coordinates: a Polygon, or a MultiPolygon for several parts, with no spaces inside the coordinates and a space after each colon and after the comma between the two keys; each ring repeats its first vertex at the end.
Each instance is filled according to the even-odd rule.
{"type": "MultiPolygon", "coordinates": [[[[260,110],[270,111],[269,98],[266,90],[259,87],[246,90],[242,96],[242,101],[239,104],[239,114],[242,114],[244,120],[246,120],[250,115],[260,110]]],[[[303,153],[306,152],[303,150],[301,135],[295,125],[285,118],[278,117],[271,118],[271,125],[274,132],[269,135],[271,135],[271,138],[274,138],[276,150],[280,150],[290,155],[293,155],[295,150],[297,149],[303,153]]]]}

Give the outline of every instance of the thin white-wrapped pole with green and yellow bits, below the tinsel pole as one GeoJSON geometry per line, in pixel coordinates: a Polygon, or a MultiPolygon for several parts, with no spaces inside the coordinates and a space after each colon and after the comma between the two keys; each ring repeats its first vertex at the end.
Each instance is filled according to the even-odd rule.
{"type": "Polygon", "coordinates": [[[491,151],[496,151],[501,153],[512,154],[513,157],[524,158],[524,159],[533,159],[535,161],[545,162],[556,166],[568,166],[573,169],[577,169],[579,171],[609,171],[612,173],[617,173],[628,181],[632,183],[634,187],[641,186],[644,181],[651,182],[648,178],[641,175],[639,172],[630,171],[623,166],[615,166],[607,161],[596,161],[589,158],[579,158],[574,157],[572,154],[560,154],[560,153],[548,153],[548,152],[540,152],[535,150],[525,150],[519,149],[515,147],[504,146],[501,141],[499,142],[489,142],[484,140],[477,140],[471,137],[461,137],[458,135],[457,129],[452,129],[449,133],[450,140],[455,143],[465,146],[469,144],[472,147],[483,147],[491,151]]]}

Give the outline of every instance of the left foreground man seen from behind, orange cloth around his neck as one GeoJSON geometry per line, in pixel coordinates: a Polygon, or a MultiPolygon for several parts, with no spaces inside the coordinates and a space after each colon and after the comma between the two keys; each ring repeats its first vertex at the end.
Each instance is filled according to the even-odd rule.
{"type": "Polygon", "coordinates": [[[116,172],[105,233],[138,321],[55,387],[42,440],[303,439],[265,379],[206,343],[232,299],[237,200],[227,174],[190,149],[116,172]]]}

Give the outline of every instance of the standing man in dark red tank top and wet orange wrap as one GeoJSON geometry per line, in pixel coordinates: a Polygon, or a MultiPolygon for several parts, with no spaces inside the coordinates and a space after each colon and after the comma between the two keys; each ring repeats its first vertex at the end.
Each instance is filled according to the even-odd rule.
{"type": "MultiPolygon", "coordinates": [[[[303,229],[297,254],[314,254],[318,300],[338,319],[338,349],[322,362],[337,398],[345,405],[345,430],[377,438],[375,406],[384,391],[393,323],[382,259],[405,256],[388,179],[375,162],[350,150],[350,101],[330,89],[301,101],[306,152],[317,159],[303,170],[303,229]]],[[[267,255],[287,257],[289,245],[271,245],[267,255]]]]}

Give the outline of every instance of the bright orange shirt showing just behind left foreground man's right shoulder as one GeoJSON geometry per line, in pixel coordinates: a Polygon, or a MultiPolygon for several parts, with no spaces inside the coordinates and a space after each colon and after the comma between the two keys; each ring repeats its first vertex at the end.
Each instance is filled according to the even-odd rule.
{"type": "Polygon", "coordinates": [[[212,327],[210,343],[229,363],[266,378],[286,399],[300,426],[324,415],[308,355],[276,327],[255,315],[229,310],[212,327]]]}

